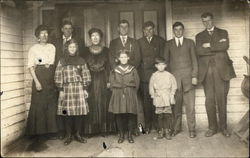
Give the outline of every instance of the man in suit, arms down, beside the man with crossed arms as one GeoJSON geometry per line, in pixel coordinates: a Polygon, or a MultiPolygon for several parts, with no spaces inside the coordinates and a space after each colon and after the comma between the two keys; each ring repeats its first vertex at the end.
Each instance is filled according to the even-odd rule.
{"type": "Polygon", "coordinates": [[[194,41],[183,37],[184,25],[176,22],[173,25],[175,37],[167,41],[164,57],[169,71],[177,81],[176,104],[173,107],[174,125],[172,135],[181,131],[182,106],[186,109],[187,124],[190,138],[195,132],[195,87],[197,84],[198,64],[194,41]]]}

